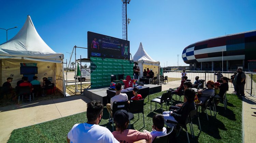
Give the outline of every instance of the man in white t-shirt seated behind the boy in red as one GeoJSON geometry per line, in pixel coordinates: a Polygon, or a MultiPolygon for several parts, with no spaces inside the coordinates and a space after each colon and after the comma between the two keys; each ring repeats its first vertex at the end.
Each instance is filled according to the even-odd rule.
{"type": "MultiPolygon", "coordinates": [[[[122,102],[122,101],[127,101],[128,96],[125,93],[121,93],[122,90],[122,84],[117,83],[115,87],[116,95],[110,99],[110,104],[106,104],[106,109],[110,112],[111,117],[112,116],[112,109],[113,109],[113,103],[114,102],[122,102]]],[[[127,101],[128,102],[128,101],[127,101]]]]}

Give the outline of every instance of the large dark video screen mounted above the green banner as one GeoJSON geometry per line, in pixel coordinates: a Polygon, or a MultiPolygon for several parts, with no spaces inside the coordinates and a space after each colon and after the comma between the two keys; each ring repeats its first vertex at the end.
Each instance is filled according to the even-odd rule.
{"type": "Polygon", "coordinates": [[[130,60],[130,41],[87,32],[88,57],[130,60]]]}

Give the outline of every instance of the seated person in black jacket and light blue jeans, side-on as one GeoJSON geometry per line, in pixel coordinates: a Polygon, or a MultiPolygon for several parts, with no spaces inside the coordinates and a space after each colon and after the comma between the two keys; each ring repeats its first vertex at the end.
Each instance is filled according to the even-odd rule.
{"type": "MultiPolygon", "coordinates": [[[[163,112],[165,123],[166,120],[170,120],[180,124],[184,124],[189,112],[196,108],[194,102],[195,94],[196,93],[193,89],[186,89],[184,95],[187,98],[187,102],[185,102],[182,107],[171,106],[173,107],[171,111],[163,112]]],[[[167,124],[167,126],[171,125],[167,124]]]]}

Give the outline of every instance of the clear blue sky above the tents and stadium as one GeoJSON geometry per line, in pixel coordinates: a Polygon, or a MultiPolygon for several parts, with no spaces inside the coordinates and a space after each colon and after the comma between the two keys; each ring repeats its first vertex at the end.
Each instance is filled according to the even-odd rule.
{"type": "MultiPolygon", "coordinates": [[[[131,54],[142,42],[161,66],[176,66],[177,54],[184,65],[183,49],[197,41],[256,29],[255,0],[131,0],[127,7],[131,54]]],[[[121,12],[121,0],[1,0],[0,28],[18,26],[8,31],[10,39],[29,14],[45,43],[66,59],[74,45],[87,47],[87,31],[122,38],[121,12]]],[[[0,29],[0,43],[5,41],[0,29]]],[[[77,49],[80,55],[87,58],[87,50],[77,49]]]]}

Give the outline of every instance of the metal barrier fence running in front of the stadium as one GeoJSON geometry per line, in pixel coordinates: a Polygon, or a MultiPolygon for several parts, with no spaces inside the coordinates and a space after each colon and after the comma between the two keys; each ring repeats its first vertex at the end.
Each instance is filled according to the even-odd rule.
{"type": "MultiPolygon", "coordinates": [[[[163,75],[168,76],[168,80],[171,83],[178,83],[177,81],[181,81],[182,70],[164,70],[163,75]]],[[[195,82],[195,77],[199,76],[199,79],[203,79],[205,81],[212,80],[214,82],[217,81],[217,76],[214,75],[214,71],[186,71],[187,77],[191,80],[192,83],[195,82]]],[[[224,77],[230,78],[234,72],[221,72],[224,77]]],[[[256,97],[256,73],[249,73],[245,72],[246,75],[246,82],[244,90],[245,92],[251,94],[252,96],[256,97]]],[[[234,88],[232,83],[228,83],[230,88],[234,88]]]]}

